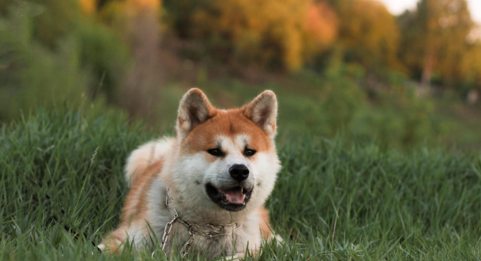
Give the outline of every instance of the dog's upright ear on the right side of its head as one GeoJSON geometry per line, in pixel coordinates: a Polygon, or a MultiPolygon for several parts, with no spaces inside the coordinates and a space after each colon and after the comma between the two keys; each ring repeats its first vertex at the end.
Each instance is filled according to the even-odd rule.
{"type": "Polygon", "coordinates": [[[276,135],[277,98],[273,91],[260,93],[242,109],[245,117],[262,128],[267,136],[273,138],[276,135]]]}

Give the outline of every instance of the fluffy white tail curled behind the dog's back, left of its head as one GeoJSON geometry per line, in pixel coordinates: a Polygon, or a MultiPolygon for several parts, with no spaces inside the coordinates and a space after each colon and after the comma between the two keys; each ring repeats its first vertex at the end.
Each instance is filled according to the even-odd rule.
{"type": "Polygon", "coordinates": [[[125,165],[125,180],[129,187],[135,184],[149,166],[161,161],[168,150],[170,150],[172,142],[173,139],[150,141],[134,150],[131,155],[128,156],[125,165]]]}

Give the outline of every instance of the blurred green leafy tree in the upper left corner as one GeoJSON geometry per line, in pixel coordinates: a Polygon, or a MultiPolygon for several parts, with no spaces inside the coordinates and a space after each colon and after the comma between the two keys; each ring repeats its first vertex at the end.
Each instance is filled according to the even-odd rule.
{"type": "Polygon", "coordinates": [[[0,89],[7,97],[22,96],[23,108],[48,104],[51,93],[88,93],[115,102],[130,57],[115,32],[82,15],[79,0],[2,3],[0,46],[6,52],[0,48],[0,89]]]}

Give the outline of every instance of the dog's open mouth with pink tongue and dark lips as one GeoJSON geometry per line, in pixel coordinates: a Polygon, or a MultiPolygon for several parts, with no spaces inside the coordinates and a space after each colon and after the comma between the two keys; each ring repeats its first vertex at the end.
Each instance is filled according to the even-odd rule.
{"type": "Polygon", "coordinates": [[[211,184],[205,185],[205,191],[219,207],[232,212],[244,209],[252,193],[252,190],[240,186],[219,190],[211,184]]]}

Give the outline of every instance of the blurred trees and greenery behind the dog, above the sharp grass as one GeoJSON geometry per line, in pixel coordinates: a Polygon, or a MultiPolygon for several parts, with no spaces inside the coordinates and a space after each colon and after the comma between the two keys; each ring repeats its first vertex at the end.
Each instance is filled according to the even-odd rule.
{"type": "Polygon", "coordinates": [[[475,4],[411,2],[0,0],[0,124],[88,105],[171,130],[190,87],[219,107],[272,89],[281,144],[479,151],[475,4]]]}

